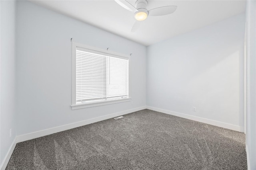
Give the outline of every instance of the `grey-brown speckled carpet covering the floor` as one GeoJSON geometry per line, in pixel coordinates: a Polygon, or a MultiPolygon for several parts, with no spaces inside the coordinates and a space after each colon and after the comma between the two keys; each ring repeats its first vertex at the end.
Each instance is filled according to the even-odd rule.
{"type": "Polygon", "coordinates": [[[246,170],[245,135],[145,109],[18,143],[16,169],[246,170]]]}

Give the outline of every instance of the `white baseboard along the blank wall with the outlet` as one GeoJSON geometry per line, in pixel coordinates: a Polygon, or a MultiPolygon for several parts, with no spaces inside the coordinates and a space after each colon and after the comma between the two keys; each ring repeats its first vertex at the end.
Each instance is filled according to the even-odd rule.
{"type": "Polygon", "coordinates": [[[215,121],[215,120],[211,120],[211,119],[206,119],[206,118],[202,118],[202,117],[187,115],[187,114],[184,114],[184,113],[178,113],[178,112],[175,112],[175,111],[159,109],[157,107],[147,106],[147,109],[162,112],[162,113],[166,113],[166,114],[169,114],[169,115],[183,117],[185,119],[199,121],[199,122],[202,122],[202,123],[207,123],[207,124],[218,126],[218,127],[223,127],[223,128],[226,128],[226,129],[231,129],[231,130],[238,131],[238,132],[244,132],[244,127],[242,127],[242,126],[237,126],[237,125],[232,125],[232,124],[229,124],[229,123],[224,123],[224,122],[215,121]]]}

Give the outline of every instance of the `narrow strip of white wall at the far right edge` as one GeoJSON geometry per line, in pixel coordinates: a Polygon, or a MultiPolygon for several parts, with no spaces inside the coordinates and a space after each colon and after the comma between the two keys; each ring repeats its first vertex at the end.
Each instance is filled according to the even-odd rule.
{"type": "Polygon", "coordinates": [[[246,4],[246,146],[248,169],[256,169],[256,1],[246,4]]]}

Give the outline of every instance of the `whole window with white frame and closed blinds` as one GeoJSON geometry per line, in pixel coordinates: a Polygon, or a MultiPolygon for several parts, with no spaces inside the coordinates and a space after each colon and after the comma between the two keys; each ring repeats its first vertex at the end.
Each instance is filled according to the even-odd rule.
{"type": "Polygon", "coordinates": [[[129,57],[72,43],[72,109],[130,101],[129,57]]]}

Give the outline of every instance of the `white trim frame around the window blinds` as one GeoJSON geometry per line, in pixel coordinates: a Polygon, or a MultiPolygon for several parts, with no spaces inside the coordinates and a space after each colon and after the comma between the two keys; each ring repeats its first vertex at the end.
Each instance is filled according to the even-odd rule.
{"type": "Polygon", "coordinates": [[[131,78],[130,78],[130,75],[131,75],[130,74],[130,56],[123,55],[123,54],[116,53],[116,52],[109,51],[109,50],[92,47],[89,45],[72,42],[72,105],[71,105],[72,110],[131,101],[131,78]],[[84,103],[84,104],[76,104],[76,48],[77,47],[87,49],[88,52],[94,51],[96,54],[128,59],[128,74],[129,74],[128,75],[128,98],[106,100],[106,101],[99,101],[99,102],[90,102],[90,103],[84,103]]]}

